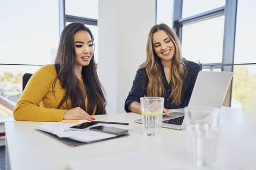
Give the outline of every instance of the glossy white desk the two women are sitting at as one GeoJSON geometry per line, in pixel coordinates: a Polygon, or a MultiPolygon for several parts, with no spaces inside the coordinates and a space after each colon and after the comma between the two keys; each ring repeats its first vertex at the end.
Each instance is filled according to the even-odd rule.
{"type": "MultiPolygon", "coordinates": [[[[152,152],[163,155],[170,160],[173,169],[198,169],[187,158],[186,130],[162,128],[160,137],[148,137],[142,135],[142,125],[134,123],[135,119],[140,118],[138,114],[100,115],[95,118],[99,121],[129,122],[129,128],[134,131],[130,136],[70,147],[35,131],[40,122],[6,122],[7,169],[66,169],[68,160],[136,148],[150,148],[152,152]]],[[[222,107],[221,133],[215,164],[218,169],[255,169],[255,133],[256,112],[243,113],[240,109],[222,107]]]]}

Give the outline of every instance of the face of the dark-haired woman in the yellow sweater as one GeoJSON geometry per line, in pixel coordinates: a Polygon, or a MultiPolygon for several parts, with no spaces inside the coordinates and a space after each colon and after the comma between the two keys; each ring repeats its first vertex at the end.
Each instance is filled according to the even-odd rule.
{"type": "Polygon", "coordinates": [[[74,35],[76,61],[79,66],[89,65],[93,57],[93,41],[87,31],[78,31],[74,35]]]}

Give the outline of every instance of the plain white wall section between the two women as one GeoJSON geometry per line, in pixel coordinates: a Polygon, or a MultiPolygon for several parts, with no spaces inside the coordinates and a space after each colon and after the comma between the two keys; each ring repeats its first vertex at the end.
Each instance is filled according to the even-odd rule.
{"type": "Polygon", "coordinates": [[[148,33],[156,20],[155,0],[99,1],[98,75],[106,89],[107,113],[124,112],[148,33]]]}

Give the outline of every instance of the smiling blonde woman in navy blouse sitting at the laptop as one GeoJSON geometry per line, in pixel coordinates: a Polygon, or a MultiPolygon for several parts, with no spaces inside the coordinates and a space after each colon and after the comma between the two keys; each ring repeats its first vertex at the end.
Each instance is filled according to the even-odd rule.
{"type": "Polygon", "coordinates": [[[147,40],[147,59],[140,65],[125,101],[126,112],[141,114],[139,98],[164,97],[163,112],[188,105],[201,66],[182,57],[175,32],[165,24],[152,27],[147,40]]]}

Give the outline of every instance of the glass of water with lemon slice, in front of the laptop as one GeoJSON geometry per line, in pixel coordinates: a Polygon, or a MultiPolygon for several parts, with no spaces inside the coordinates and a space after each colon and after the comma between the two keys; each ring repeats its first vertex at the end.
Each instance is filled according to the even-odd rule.
{"type": "Polygon", "coordinates": [[[140,97],[144,135],[158,136],[161,134],[163,103],[163,97],[140,97]]]}

